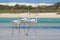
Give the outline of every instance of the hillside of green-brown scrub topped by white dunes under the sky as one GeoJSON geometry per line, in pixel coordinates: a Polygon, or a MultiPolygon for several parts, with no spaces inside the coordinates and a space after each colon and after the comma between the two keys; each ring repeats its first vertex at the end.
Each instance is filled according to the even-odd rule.
{"type": "Polygon", "coordinates": [[[32,4],[32,3],[0,3],[0,13],[40,13],[60,12],[60,2],[55,4],[32,4]]]}

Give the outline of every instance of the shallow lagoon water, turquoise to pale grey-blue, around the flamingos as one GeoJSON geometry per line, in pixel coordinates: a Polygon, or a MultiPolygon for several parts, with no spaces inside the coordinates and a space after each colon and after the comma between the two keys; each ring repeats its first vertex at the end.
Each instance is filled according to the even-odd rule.
{"type": "MultiPolygon", "coordinates": [[[[0,18],[0,37],[12,37],[13,26],[15,27],[13,37],[19,37],[18,35],[26,37],[25,33],[29,28],[29,24],[21,23],[19,26],[13,25],[11,22],[17,19],[0,18]],[[18,33],[18,29],[20,29],[21,34],[18,33]]],[[[30,27],[29,37],[60,37],[60,18],[37,18],[37,20],[37,23],[32,24],[30,27]]]]}

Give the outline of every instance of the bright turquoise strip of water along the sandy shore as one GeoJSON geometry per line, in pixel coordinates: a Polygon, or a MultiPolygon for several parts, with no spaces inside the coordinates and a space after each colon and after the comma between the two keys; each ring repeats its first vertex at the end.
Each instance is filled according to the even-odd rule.
{"type": "MultiPolygon", "coordinates": [[[[9,23],[16,19],[18,18],[0,18],[0,23],[9,23]]],[[[37,20],[37,23],[60,23],[60,18],[37,18],[37,20]]]]}

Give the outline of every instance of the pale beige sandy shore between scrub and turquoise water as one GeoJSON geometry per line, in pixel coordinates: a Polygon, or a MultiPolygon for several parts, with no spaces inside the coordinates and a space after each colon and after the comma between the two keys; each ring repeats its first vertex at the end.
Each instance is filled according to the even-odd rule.
{"type": "Polygon", "coordinates": [[[0,18],[22,18],[22,17],[37,17],[37,18],[60,18],[60,15],[56,13],[1,13],[0,18]]]}

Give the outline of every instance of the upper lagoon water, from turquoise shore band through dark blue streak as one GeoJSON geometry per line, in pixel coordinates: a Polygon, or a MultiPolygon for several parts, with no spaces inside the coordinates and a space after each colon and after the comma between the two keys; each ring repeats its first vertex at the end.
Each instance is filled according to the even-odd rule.
{"type": "MultiPolygon", "coordinates": [[[[13,24],[11,21],[17,20],[18,18],[0,18],[0,28],[11,28],[13,24]]],[[[19,18],[21,19],[21,18],[19,18]]],[[[60,29],[60,18],[37,18],[37,23],[33,24],[31,28],[56,28],[60,29]]],[[[28,28],[28,24],[21,24],[21,28],[28,28]]],[[[17,28],[17,26],[15,26],[17,28]]]]}

